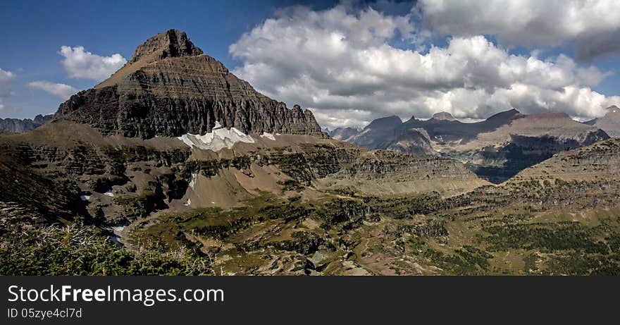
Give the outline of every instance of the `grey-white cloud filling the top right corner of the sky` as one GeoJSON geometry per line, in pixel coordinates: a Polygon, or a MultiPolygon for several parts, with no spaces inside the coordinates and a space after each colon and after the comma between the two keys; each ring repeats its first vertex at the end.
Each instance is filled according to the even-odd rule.
{"type": "Polygon", "coordinates": [[[582,60],[620,53],[618,0],[420,0],[418,8],[445,35],[497,35],[526,47],[573,42],[582,60]]]}

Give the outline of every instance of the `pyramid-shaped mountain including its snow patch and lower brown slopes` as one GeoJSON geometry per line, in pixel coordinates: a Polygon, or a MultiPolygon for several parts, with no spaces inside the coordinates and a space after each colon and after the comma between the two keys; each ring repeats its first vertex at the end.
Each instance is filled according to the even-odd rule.
{"type": "MultiPolygon", "coordinates": [[[[402,123],[385,121],[394,122],[402,123]]],[[[377,121],[366,131],[375,127],[385,129],[377,121]]],[[[452,159],[324,137],[309,111],[256,92],[177,30],[148,39],[42,127],[1,136],[0,149],[0,185],[11,189],[0,201],[50,222],[77,216],[104,226],[161,211],[230,209],[266,193],[447,195],[486,183],[452,159]],[[54,188],[63,190],[52,195],[54,188]]]]}

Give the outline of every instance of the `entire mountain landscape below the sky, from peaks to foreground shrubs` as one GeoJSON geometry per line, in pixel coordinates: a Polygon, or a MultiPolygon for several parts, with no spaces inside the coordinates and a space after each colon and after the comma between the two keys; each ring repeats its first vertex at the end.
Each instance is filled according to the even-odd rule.
{"type": "Polygon", "coordinates": [[[570,149],[607,136],[593,126],[508,111],[334,135],[383,149],[156,35],[0,135],[0,274],[620,274],[617,138],[570,149]]]}

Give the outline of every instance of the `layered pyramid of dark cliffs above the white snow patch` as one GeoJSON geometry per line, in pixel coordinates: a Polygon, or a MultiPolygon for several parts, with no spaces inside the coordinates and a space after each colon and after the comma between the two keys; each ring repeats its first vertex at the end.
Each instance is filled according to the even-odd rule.
{"type": "Polygon", "coordinates": [[[204,134],[216,122],[244,133],[321,135],[310,111],[256,92],[178,30],[148,39],[108,80],[61,104],[56,118],[126,137],[204,134]]]}

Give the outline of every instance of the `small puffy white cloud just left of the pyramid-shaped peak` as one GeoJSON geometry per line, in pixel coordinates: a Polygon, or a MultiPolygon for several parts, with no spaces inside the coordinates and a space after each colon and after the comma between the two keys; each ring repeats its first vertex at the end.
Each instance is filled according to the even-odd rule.
{"type": "Polygon", "coordinates": [[[121,68],[127,60],[120,54],[99,56],[85,51],[84,47],[61,47],[62,63],[69,78],[103,81],[121,68]]]}

